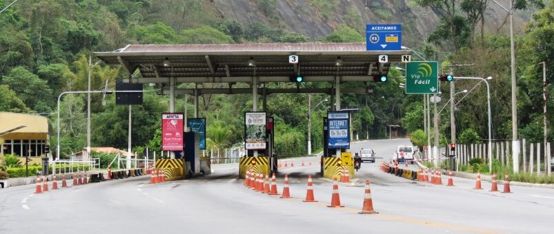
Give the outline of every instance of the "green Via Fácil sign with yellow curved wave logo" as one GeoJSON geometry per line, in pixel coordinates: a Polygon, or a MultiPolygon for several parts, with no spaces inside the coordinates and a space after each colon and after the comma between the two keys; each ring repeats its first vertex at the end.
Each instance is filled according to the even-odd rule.
{"type": "Polygon", "coordinates": [[[438,94],[439,62],[406,64],[406,94],[438,94]]]}

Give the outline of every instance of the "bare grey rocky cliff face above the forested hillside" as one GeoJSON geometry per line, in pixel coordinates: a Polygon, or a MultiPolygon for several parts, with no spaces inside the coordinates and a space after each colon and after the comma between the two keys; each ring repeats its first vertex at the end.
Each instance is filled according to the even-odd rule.
{"type": "MultiPolygon", "coordinates": [[[[433,31],[439,21],[437,12],[421,8],[413,0],[210,0],[221,17],[235,19],[248,26],[259,22],[321,39],[346,23],[365,32],[366,23],[401,23],[404,44],[416,45],[433,31]]],[[[508,6],[508,0],[499,1],[508,6]]],[[[486,30],[498,31],[506,12],[489,3],[486,30]]],[[[528,19],[520,12],[516,28],[528,19]]],[[[506,27],[504,27],[506,28],[506,27]]]]}

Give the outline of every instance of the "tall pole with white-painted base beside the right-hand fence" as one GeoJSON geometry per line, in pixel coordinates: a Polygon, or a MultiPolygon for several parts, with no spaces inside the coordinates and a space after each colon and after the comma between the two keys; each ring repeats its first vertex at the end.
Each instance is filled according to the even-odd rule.
{"type": "Polygon", "coordinates": [[[496,5],[506,10],[510,14],[510,54],[511,54],[511,76],[512,76],[512,159],[513,159],[513,172],[520,171],[520,140],[517,138],[517,100],[515,96],[515,46],[513,41],[513,0],[510,0],[510,9],[504,8],[496,0],[493,0],[496,5]]]}

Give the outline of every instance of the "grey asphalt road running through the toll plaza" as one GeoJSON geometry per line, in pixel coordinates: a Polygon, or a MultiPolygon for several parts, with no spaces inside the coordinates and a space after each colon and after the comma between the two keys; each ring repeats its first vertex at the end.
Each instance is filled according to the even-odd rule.
{"type": "MultiPolygon", "coordinates": [[[[353,143],[390,157],[408,140],[353,143]]],[[[387,158],[388,160],[388,158],[387,158]]],[[[237,164],[213,165],[212,175],[148,184],[128,178],[34,195],[34,186],[0,190],[0,233],[553,233],[554,189],[512,186],[513,193],[472,189],[475,181],[455,178],[455,187],[412,182],[364,163],[354,183],[339,185],[344,208],[328,208],[332,183],[318,178],[318,157],[299,158],[290,175],[293,199],[247,189],[237,164]],[[301,160],[313,166],[300,167],[301,160]],[[306,196],[314,176],[315,199],[306,196]],[[359,215],[363,182],[371,181],[379,214],[359,215]]],[[[410,166],[413,167],[413,166],[410,166]]],[[[446,183],[446,178],[443,178],[446,183]]],[[[502,188],[500,188],[502,189],[502,188]]]]}

